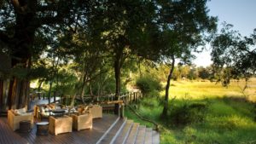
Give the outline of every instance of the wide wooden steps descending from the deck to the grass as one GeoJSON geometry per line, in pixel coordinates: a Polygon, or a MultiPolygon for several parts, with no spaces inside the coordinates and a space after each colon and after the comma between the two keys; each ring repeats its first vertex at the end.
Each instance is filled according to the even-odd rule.
{"type": "Polygon", "coordinates": [[[102,135],[96,144],[159,144],[160,134],[146,128],[145,125],[134,123],[127,118],[118,118],[102,135]]]}

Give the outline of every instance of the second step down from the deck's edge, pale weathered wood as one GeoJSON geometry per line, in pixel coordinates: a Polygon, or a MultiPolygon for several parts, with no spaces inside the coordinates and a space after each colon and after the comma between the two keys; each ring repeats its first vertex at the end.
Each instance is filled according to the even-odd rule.
{"type": "Polygon", "coordinates": [[[116,138],[113,139],[113,144],[124,144],[130,131],[131,131],[131,127],[133,125],[133,121],[132,120],[127,120],[124,128],[122,130],[120,130],[119,134],[117,134],[116,138]]]}

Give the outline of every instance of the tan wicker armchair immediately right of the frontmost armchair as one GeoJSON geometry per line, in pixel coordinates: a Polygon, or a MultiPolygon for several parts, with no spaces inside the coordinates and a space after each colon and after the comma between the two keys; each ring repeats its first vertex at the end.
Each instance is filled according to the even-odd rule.
{"type": "Polygon", "coordinates": [[[90,113],[71,114],[71,117],[73,118],[73,129],[79,131],[92,128],[92,115],[90,113]]]}

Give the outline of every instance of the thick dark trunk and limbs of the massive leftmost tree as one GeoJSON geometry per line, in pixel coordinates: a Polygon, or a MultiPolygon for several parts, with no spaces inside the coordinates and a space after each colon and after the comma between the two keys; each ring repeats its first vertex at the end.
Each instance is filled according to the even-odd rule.
{"type": "MultiPolygon", "coordinates": [[[[10,3],[13,5],[11,8],[14,8],[15,13],[15,16],[11,16],[11,14],[9,14],[11,19],[15,19],[15,28],[13,30],[14,35],[13,37],[9,37],[5,32],[0,31],[0,41],[5,43],[9,48],[11,54],[11,68],[14,68],[15,66],[22,66],[22,68],[29,70],[31,66],[32,45],[34,43],[36,29],[42,25],[60,22],[66,16],[65,12],[71,9],[70,5],[73,2],[67,1],[67,3],[70,4],[66,4],[66,6],[61,9],[56,9],[57,7],[55,7],[55,5],[54,7],[53,5],[42,6],[37,0],[11,0],[10,3]],[[49,9],[51,12],[56,11],[56,15],[49,16],[49,14],[46,14],[47,16],[45,17],[36,17],[35,15],[40,11],[40,6],[44,7],[44,9],[49,9]],[[30,62],[26,65],[28,60],[30,60],[30,62]]],[[[59,3],[62,3],[62,1],[59,3]]],[[[46,13],[49,13],[49,11],[46,13]]],[[[40,13],[44,13],[44,11],[40,11],[40,13]]],[[[29,91],[29,79],[27,76],[26,78],[13,76],[9,81],[8,89],[7,107],[3,107],[3,109],[19,108],[27,105],[26,102],[28,101],[27,96],[29,91]]],[[[0,88],[0,90],[0,93],[3,93],[4,89],[0,88]]]]}

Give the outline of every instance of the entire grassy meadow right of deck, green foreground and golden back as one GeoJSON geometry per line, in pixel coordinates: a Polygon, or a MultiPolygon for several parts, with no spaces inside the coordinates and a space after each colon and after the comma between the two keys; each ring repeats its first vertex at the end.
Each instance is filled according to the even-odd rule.
{"type": "MultiPolygon", "coordinates": [[[[160,118],[164,91],[160,97],[143,99],[136,107],[144,118],[160,124],[162,144],[256,144],[256,78],[249,80],[244,91],[245,82],[235,80],[229,87],[209,81],[171,83],[167,118],[160,118]],[[188,123],[179,124],[177,119],[188,123]]],[[[153,126],[138,119],[129,109],[125,114],[153,126]]]]}

